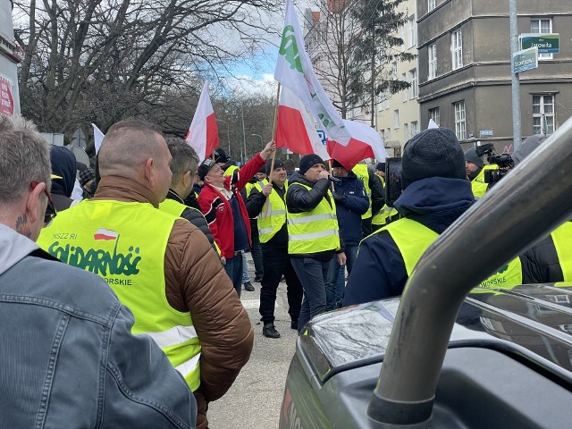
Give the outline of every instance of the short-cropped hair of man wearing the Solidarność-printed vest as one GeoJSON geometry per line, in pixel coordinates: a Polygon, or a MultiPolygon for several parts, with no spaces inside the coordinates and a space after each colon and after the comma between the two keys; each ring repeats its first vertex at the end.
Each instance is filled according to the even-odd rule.
{"type": "Polygon", "coordinates": [[[116,122],[105,133],[98,155],[101,177],[132,177],[148,158],[161,158],[164,152],[156,136],[163,137],[155,124],[139,119],[116,122]]]}

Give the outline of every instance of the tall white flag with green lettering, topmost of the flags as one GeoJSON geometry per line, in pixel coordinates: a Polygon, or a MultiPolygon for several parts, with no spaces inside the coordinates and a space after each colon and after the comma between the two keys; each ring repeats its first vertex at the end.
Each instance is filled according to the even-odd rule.
{"type": "Polygon", "coordinates": [[[336,139],[341,145],[349,143],[349,131],[315,76],[310,58],[304,49],[304,38],[292,0],[286,1],[286,18],[274,79],[299,97],[314,114],[326,136],[336,139]]]}

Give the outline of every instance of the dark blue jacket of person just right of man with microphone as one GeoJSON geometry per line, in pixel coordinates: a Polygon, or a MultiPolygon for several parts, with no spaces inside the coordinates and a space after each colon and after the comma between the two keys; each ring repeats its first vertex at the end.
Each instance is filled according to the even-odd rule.
{"type": "Polygon", "coordinates": [[[338,179],[341,183],[334,183],[333,187],[341,237],[346,246],[357,246],[362,239],[361,215],[369,208],[366,187],[354,172],[338,179]]]}

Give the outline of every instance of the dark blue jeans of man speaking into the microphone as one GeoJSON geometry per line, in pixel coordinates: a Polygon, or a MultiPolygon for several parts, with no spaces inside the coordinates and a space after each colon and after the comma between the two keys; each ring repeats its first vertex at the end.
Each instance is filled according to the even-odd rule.
{"type": "Polygon", "coordinates": [[[298,319],[298,332],[301,332],[312,317],[325,311],[325,280],[330,262],[311,257],[292,257],[291,261],[304,288],[304,299],[298,319]]]}

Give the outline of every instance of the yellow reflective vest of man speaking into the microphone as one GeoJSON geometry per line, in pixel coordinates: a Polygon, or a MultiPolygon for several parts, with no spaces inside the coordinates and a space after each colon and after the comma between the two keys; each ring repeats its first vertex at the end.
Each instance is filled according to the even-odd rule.
{"type": "MultiPolygon", "coordinates": [[[[297,185],[310,190],[305,184],[297,185]]],[[[328,190],[330,201],[332,193],[328,190]]],[[[324,252],[340,249],[340,229],[335,205],[324,197],[310,212],[288,212],[288,253],[292,255],[324,252]]]]}

